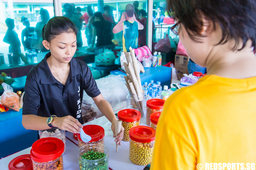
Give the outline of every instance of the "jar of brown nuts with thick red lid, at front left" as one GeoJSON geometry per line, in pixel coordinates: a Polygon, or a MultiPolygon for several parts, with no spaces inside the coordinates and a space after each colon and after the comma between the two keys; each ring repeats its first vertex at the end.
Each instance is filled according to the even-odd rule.
{"type": "Polygon", "coordinates": [[[33,170],[63,170],[64,143],[48,137],[35,141],[30,150],[33,170]]]}

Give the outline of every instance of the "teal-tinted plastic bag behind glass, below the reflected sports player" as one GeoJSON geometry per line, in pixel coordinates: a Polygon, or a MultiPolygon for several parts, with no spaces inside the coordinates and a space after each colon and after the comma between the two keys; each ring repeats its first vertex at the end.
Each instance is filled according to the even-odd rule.
{"type": "Polygon", "coordinates": [[[109,66],[115,64],[116,56],[113,51],[109,49],[99,49],[99,55],[95,56],[96,66],[109,66]],[[103,53],[101,53],[104,50],[103,53]]]}

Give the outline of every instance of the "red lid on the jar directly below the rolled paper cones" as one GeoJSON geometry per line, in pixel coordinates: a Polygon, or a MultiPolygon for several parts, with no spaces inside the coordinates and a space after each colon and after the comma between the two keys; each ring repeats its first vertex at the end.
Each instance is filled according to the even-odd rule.
{"type": "Polygon", "coordinates": [[[136,122],[141,119],[141,113],[134,109],[124,109],[118,112],[117,118],[124,122],[136,122]]]}

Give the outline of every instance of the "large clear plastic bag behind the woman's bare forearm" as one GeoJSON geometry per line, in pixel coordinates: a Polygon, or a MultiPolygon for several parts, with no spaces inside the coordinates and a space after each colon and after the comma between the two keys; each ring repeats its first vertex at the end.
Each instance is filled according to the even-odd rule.
{"type": "MultiPolygon", "coordinates": [[[[111,74],[95,81],[102,96],[110,103],[114,111],[126,106],[128,89],[123,75],[111,74]]],[[[81,109],[84,120],[89,121],[94,117],[99,118],[103,116],[93,99],[86,92],[84,92],[81,109]]]]}

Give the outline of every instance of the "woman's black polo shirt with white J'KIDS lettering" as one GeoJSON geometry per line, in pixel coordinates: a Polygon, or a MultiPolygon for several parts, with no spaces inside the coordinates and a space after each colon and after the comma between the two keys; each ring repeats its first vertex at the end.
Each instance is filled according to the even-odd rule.
{"type": "Polygon", "coordinates": [[[23,97],[23,115],[41,117],[73,116],[83,123],[81,104],[83,92],[90,97],[100,95],[100,90],[86,63],[72,58],[70,71],[65,85],[57,81],[44,59],[28,73],[23,97]]]}

